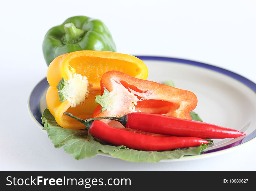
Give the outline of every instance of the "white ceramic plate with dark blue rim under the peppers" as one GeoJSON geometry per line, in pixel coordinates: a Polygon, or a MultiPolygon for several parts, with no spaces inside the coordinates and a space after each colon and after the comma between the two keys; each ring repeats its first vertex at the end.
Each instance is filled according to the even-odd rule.
{"type": "MultiPolygon", "coordinates": [[[[228,70],[191,60],[137,56],[148,67],[148,80],[162,83],[172,80],[175,87],[189,90],[198,97],[195,112],[204,122],[234,128],[246,132],[246,136],[235,139],[215,139],[204,153],[185,156],[181,159],[162,161],[192,160],[213,156],[221,151],[238,148],[238,145],[255,140],[256,137],[256,84],[228,70]]],[[[29,98],[29,111],[37,125],[42,128],[42,112],[47,108],[46,78],[33,89],[29,98]]],[[[103,156],[108,154],[99,153],[103,156]]]]}

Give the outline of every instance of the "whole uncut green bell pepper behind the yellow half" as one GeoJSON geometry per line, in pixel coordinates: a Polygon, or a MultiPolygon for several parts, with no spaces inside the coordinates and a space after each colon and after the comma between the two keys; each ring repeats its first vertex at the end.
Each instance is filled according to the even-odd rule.
{"type": "Polygon", "coordinates": [[[79,50],[116,51],[106,25],[86,16],[70,17],[45,35],[43,54],[47,65],[59,55],[79,50]]]}

